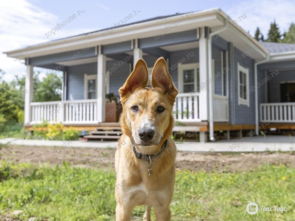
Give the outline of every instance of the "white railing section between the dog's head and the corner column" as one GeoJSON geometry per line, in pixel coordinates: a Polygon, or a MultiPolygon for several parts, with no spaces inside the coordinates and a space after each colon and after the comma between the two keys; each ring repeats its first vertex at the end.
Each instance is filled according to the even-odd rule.
{"type": "Polygon", "coordinates": [[[173,108],[176,121],[201,121],[199,117],[199,93],[179,93],[173,108]]]}

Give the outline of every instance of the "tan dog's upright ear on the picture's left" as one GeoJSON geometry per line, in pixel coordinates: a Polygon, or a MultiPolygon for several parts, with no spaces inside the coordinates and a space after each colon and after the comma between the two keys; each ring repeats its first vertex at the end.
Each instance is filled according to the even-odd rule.
{"type": "Polygon", "coordinates": [[[148,85],[148,67],[144,60],[138,59],[134,70],[127,78],[124,85],[119,89],[120,101],[124,103],[130,94],[138,87],[146,87],[148,85]]]}

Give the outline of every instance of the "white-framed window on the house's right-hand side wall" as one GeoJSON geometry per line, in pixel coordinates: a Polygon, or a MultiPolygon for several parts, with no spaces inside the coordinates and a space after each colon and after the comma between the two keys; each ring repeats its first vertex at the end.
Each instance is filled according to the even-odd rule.
{"type": "Polygon", "coordinates": [[[238,69],[238,95],[239,105],[247,105],[250,106],[250,99],[249,99],[249,68],[245,68],[242,65],[237,63],[238,69]]]}

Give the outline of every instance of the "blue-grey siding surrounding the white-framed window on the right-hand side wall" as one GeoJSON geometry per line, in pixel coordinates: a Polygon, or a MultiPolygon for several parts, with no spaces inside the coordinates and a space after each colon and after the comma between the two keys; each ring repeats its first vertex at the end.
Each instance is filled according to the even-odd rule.
{"type": "Polygon", "coordinates": [[[250,57],[242,57],[242,52],[236,47],[234,48],[234,73],[235,73],[235,124],[255,124],[255,92],[250,93],[250,107],[247,105],[238,105],[238,73],[237,62],[245,68],[249,68],[249,87],[254,87],[254,60],[250,57]]]}

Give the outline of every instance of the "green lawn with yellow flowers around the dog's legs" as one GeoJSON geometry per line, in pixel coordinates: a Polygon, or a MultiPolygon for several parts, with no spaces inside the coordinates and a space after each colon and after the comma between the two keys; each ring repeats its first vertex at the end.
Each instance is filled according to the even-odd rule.
{"type": "MultiPolygon", "coordinates": [[[[176,171],[171,220],[294,220],[295,168],[265,164],[231,174],[214,171],[176,171]],[[286,178],[286,179],[285,179],[286,178]],[[287,211],[249,215],[255,202],[287,211]]],[[[24,210],[20,220],[114,220],[115,173],[112,168],[10,164],[0,167],[0,214],[24,210]]],[[[142,220],[144,206],[132,213],[142,220]]],[[[137,220],[137,219],[136,219],[137,220]]]]}

